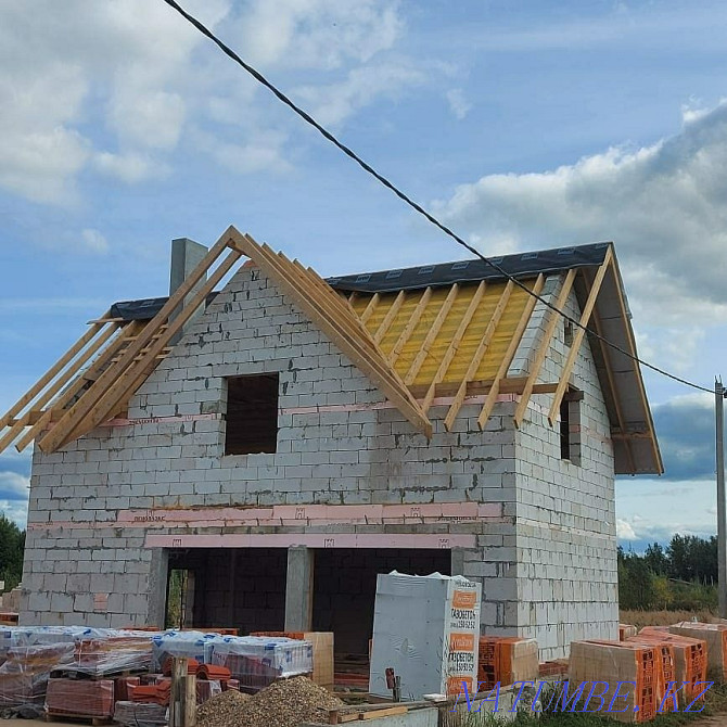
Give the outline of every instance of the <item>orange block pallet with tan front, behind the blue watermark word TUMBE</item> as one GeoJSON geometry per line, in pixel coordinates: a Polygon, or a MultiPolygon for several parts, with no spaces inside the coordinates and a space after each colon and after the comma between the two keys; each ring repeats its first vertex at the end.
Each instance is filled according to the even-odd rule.
{"type": "MultiPolygon", "coordinates": [[[[613,719],[649,722],[655,716],[659,706],[658,660],[656,650],[646,643],[574,641],[571,643],[569,677],[574,688],[582,683],[608,684],[602,698],[605,705],[613,704],[609,714],[613,719]],[[620,684],[624,681],[634,683],[636,688],[620,684]]],[[[596,704],[589,705],[589,709],[595,709],[598,703],[596,700],[596,704]]]]}

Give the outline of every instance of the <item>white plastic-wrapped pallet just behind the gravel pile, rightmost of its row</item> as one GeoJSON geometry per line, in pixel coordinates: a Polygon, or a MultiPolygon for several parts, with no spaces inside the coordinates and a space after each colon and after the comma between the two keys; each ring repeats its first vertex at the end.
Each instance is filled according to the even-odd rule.
{"type": "Polygon", "coordinates": [[[212,663],[227,666],[241,687],[263,688],[279,678],[313,672],[310,641],[226,636],[214,641],[212,663]]]}

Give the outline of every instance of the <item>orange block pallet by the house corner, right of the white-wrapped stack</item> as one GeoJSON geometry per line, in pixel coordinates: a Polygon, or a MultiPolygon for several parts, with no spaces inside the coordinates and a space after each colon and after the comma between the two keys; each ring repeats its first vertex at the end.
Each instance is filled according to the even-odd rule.
{"type": "Polygon", "coordinates": [[[538,678],[538,645],[535,639],[518,636],[481,636],[477,655],[477,681],[481,689],[538,678]]]}

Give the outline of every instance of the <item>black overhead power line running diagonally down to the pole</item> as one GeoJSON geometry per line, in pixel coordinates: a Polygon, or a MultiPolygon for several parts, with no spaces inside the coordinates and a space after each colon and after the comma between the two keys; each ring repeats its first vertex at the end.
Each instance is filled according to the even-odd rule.
{"type": "Polygon", "coordinates": [[[685,386],[691,386],[692,388],[696,388],[701,392],[707,392],[710,394],[714,393],[714,390],[712,388],[707,388],[706,386],[702,386],[700,384],[693,383],[692,381],[688,381],[687,379],[683,379],[681,377],[677,377],[674,373],[669,373],[668,371],[665,371],[664,369],[653,364],[649,364],[648,361],[645,361],[638,356],[635,356],[629,350],[626,350],[625,348],[622,348],[612,341],[609,341],[608,339],[600,335],[599,333],[588,328],[587,326],[583,326],[581,321],[569,316],[569,314],[566,314],[564,310],[561,310],[557,306],[552,305],[552,303],[547,301],[541,295],[533,292],[530,288],[527,288],[527,285],[525,285],[525,283],[523,283],[522,281],[518,280],[514,276],[503,270],[497,263],[494,263],[493,260],[485,257],[479,250],[476,250],[475,247],[470,245],[465,240],[460,238],[454,230],[447,227],[444,222],[439,221],[436,217],[434,217],[434,215],[428,212],[418,202],[414,202],[406,192],[403,192],[398,187],[396,187],[396,184],[394,184],[386,177],[377,171],[368,162],[361,158],[355,151],[353,151],[349,146],[346,146],[346,144],[340,141],[331,131],[329,131],[324,126],[319,124],[307,111],[298,106],[294,101],[292,101],[288,95],[285,95],[277,86],[275,86],[271,81],[269,81],[259,71],[255,69],[252,65],[243,61],[229,46],[227,46],[222,40],[220,40],[212,30],[209,30],[209,28],[203,25],[196,17],[188,13],[178,2],[176,2],[175,0],[164,0],[164,2],[166,2],[167,5],[176,10],[184,20],[191,23],[200,33],[209,38],[209,40],[212,40],[222,51],[222,53],[232,59],[238,65],[242,66],[242,68],[244,68],[253,78],[255,78],[255,80],[265,86],[265,88],[267,88],[275,97],[277,97],[280,101],[282,101],[282,103],[284,103],[293,112],[295,112],[304,122],[306,122],[306,124],[313,126],[321,136],[323,136],[334,146],[340,149],[346,156],[356,162],[356,164],[358,164],[366,173],[374,177],[386,189],[394,192],[394,194],[396,194],[396,196],[398,196],[399,200],[401,200],[409,207],[411,207],[417,213],[425,217],[432,225],[439,228],[439,230],[442,230],[447,237],[451,238],[457,244],[461,245],[470,253],[479,257],[494,270],[497,270],[497,272],[499,272],[503,278],[511,280],[513,284],[524,290],[528,295],[535,297],[537,301],[543,303],[543,305],[545,305],[547,308],[550,308],[559,316],[562,316],[562,318],[564,318],[566,321],[569,321],[576,328],[583,329],[592,337],[603,342],[603,344],[605,344],[607,346],[610,346],[614,350],[617,350],[620,354],[627,356],[628,358],[640,364],[641,366],[651,369],[652,371],[655,371],[656,373],[660,373],[661,375],[666,377],[667,379],[672,379],[673,381],[684,384],[685,386]]]}

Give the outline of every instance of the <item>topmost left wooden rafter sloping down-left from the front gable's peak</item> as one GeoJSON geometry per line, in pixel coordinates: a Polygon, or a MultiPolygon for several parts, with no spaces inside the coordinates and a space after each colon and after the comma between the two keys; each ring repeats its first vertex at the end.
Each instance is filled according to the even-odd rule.
{"type": "MultiPolygon", "coordinates": [[[[233,228],[230,228],[233,229],[233,228]]],[[[209,250],[209,252],[202,258],[200,264],[194,268],[184,282],[175,291],[174,295],[164,304],[162,309],[154,316],[154,318],[139,332],[139,335],[133,343],[131,343],[125,350],[115,366],[109,367],[99,379],[85,392],[84,396],[74,404],[66,412],[64,418],[49,432],[39,445],[43,451],[55,451],[62,442],[68,442],[66,432],[73,432],[78,428],[81,421],[88,420],[94,407],[100,399],[106,394],[110,388],[114,386],[114,382],[123,374],[123,372],[133,362],[139,353],[146,347],[158,328],[166,323],[169,316],[174,314],[177,308],[183,304],[184,298],[194,290],[197,282],[207,271],[207,268],[222,254],[227,248],[228,240],[230,238],[229,230],[217,241],[217,243],[209,250]]]]}

